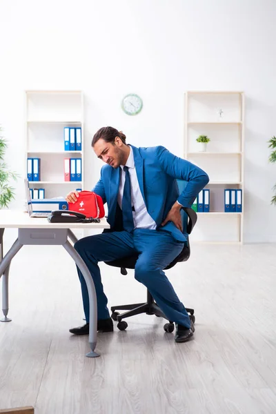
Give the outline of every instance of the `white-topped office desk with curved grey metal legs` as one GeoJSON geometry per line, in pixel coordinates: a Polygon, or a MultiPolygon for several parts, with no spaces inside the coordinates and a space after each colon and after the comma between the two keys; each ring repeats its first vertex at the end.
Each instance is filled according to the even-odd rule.
{"type": "MultiPolygon", "coordinates": [[[[28,213],[22,211],[0,210],[0,230],[4,228],[18,228],[17,239],[3,259],[1,258],[0,262],[0,278],[3,275],[2,309],[4,314],[1,322],[10,322],[11,320],[8,318],[8,275],[12,258],[24,244],[61,245],[75,260],[86,280],[90,304],[89,344],[91,348],[90,353],[86,356],[98,357],[99,354],[94,352],[97,344],[97,297],[94,282],[83,259],[81,259],[68,239],[74,244],[77,242],[77,237],[71,230],[74,228],[109,227],[106,219],[101,219],[100,223],[49,223],[46,218],[29,217],[28,213]]],[[[3,233],[3,230],[1,233],[3,233]]]]}

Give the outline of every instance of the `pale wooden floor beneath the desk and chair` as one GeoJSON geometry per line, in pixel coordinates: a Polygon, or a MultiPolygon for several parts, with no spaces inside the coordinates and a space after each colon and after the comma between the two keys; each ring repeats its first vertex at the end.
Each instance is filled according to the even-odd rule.
{"type": "MultiPolygon", "coordinates": [[[[7,244],[8,246],[8,244],[7,244]]],[[[10,269],[10,317],[0,324],[0,408],[35,414],[275,414],[276,246],[194,245],[167,275],[195,308],[195,339],[176,344],[143,315],[98,334],[89,359],[75,265],[61,247],[25,246],[10,269]]],[[[146,291],[101,266],[109,304],[146,291]]]]}

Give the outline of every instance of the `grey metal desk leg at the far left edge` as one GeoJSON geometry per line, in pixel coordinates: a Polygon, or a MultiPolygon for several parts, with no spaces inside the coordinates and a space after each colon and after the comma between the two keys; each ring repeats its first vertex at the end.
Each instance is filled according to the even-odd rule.
{"type": "Polygon", "coordinates": [[[3,275],[3,290],[2,290],[2,309],[4,317],[0,319],[1,322],[10,322],[12,319],[8,318],[8,275],[10,270],[10,262],[12,258],[19,252],[23,244],[16,239],[8,253],[3,257],[0,262],[0,278],[3,275]]]}

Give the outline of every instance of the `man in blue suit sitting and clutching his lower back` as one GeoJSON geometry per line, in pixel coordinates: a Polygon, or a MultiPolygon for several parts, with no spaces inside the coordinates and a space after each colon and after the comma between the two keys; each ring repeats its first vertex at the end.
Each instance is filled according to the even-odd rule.
{"type": "MultiPolygon", "coordinates": [[[[186,342],[193,337],[195,328],[163,269],[179,255],[186,242],[181,207],[192,206],[199,191],[208,183],[208,175],[163,146],[136,148],[127,145],[123,132],[110,126],[96,132],[92,147],[97,157],[106,163],[92,191],[108,204],[110,231],[84,237],[75,248],[95,283],[97,329],[113,331],[98,262],[138,252],[135,279],[148,288],[161,311],[175,322],[175,341],[186,342]],[[188,181],[180,195],[177,179],[188,181]]],[[[78,197],[75,191],[69,193],[66,200],[76,202],[78,197]]],[[[79,269],[78,273],[86,324],[70,332],[86,335],[89,333],[88,290],[79,269]]]]}

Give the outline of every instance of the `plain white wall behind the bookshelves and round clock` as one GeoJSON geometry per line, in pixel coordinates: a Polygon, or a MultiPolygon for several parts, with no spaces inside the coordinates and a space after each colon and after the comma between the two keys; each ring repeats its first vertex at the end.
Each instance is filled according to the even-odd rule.
{"type": "MultiPolygon", "coordinates": [[[[137,146],[183,154],[184,92],[246,94],[245,241],[276,242],[270,206],[276,166],[275,0],[0,0],[0,123],[7,161],[23,178],[23,90],[81,89],[86,96],[86,177],[100,161],[90,149],[97,128],[124,130],[137,146]],[[137,117],[121,110],[136,92],[137,117]]],[[[23,197],[17,184],[16,206],[23,197]]]]}

